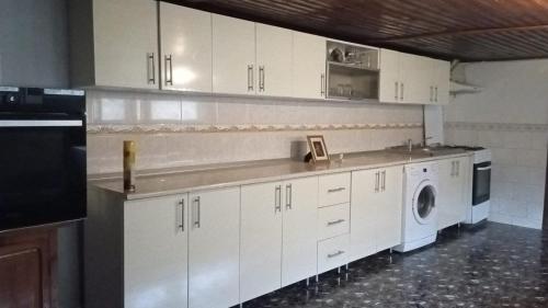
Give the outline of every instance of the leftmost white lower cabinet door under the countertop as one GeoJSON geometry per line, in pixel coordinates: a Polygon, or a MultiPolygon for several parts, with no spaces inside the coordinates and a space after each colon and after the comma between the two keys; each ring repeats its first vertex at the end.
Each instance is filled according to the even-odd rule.
{"type": "Polygon", "coordinates": [[[125,307],[187,306],[187,210],[186,195],[124,204],[125,307]]]}

